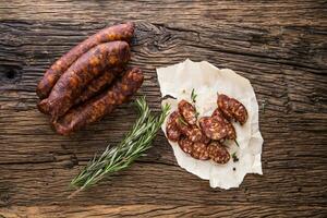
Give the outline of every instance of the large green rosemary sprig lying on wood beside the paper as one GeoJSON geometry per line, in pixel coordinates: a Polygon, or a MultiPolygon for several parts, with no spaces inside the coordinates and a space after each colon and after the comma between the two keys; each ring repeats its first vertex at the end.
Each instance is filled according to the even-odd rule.
{"type": "MultiPolygon", "coordinates": [[[[72,180],[71,186],[77,192],[96,184],[99,180],[119,170],[126,169],[140,156],[152,147],[162,122],[168,116],[170,106],[162,108],[160,116],[153,116],[144,97],[136,99],[140,117],[124,140],[114,147],[108,147],[98,157],[94,157],[87,166],[72,180]]],[[[72,197],[71,195],[71,197],[72,197]]]]}

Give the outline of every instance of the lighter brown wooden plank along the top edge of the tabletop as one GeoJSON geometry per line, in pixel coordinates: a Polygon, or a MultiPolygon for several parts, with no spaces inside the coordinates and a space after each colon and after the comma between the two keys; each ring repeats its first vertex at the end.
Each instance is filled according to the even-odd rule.
{"type": "MultiPolygon", "coordinates": [[[[258,25],[326,25],[326,1],[68,1],[12,0],[0,7],[2,19],[39,21],[121,21],[150,22],[215,21],[258,25]],[[133,9],[133,10],[131,10],[133,9]]],[[[210,22],[214,23],[214,22],[210,22]]]]}

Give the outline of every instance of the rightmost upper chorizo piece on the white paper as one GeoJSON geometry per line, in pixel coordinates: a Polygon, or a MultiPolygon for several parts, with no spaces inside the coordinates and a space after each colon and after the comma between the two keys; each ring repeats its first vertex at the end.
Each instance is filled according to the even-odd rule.
{"type": "Polygon", "coordinates": [[[220,94],[218,95],[217,105],[225,118],[227,118],[228,120],[234,119],[235,121],[240,122],[241,125],[246,122],[246,108],[237,99],[220,94]]]}

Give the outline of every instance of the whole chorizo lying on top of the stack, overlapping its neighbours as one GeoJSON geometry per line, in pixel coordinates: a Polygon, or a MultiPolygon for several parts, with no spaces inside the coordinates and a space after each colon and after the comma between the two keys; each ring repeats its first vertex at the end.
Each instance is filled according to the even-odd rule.
{"type": "Polygon", "coordinates": [[[39,104],[41,111],[50,113],[52,121],[63,116],[86,85],[106,68],[119,66],[130,60],[130,46],[125,41],[100,44],[78,58],[58,80],[48,98],[39,104]]]}

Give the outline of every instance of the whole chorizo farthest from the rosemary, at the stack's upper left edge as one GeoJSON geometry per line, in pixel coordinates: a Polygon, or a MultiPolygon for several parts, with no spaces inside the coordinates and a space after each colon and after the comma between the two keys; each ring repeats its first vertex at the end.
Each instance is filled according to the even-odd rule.
{"type": "Polygon", "coordinates": [[[77,60],[82,55],[87,52],[93,47],[102,43],[113,40],[130,41],[134,34],[134,25],[129,22],[125,24],[119,24],[101,29],[97,34],[90,36],[86,40],[82,41],[68,53],[57,60],[49,70],[46,71],[44,77],[40,80],[36,93],[40,99],[47,98],[52,87],[60,78],[60,76],[71,66],[71,64],[77,60]]]}

